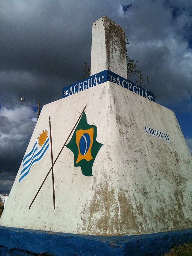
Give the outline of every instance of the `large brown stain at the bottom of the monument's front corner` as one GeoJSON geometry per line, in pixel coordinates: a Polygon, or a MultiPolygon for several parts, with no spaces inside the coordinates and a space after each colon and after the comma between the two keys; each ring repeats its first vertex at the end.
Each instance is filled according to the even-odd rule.
{"type": "Polygon", "coordinates": [[[89,212],[88,219],[82,221],[84,225],[88,224],[88,233],[98,230],[96,235],[120,235],[127,233],[129,227],[130,232],[137,234],[138,224],[128,194],[119,192],[116,198],[116,191],[109,188],[107,179],[105,187],[95,191],[86,211],[89,212]]]}

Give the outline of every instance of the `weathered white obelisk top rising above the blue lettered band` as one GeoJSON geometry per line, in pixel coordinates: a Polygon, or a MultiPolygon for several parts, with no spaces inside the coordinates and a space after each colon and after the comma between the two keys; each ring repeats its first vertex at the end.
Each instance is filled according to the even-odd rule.
{"type": "Polygon", "coordinates": [[[107,16],[92,27],[91,75],[103,70],[127,78],[125,31],[107,16]]]}

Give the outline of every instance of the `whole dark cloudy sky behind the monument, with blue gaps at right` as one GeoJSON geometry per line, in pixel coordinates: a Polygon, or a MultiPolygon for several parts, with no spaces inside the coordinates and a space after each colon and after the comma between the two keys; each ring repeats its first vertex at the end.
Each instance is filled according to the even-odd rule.
{"type": "Polygon", "coordinates": [[[0,192],[9,194],[35,127],[37,102],[62,98],[90,66],[92,23],[125,29],[128,55],[156,102],[176,114],[192,152],[191,0],[0,0],[0,192]]]}

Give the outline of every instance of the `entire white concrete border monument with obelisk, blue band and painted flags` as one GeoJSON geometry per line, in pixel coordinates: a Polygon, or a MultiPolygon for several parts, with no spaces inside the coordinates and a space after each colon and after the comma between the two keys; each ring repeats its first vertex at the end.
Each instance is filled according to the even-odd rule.
{"type": "Polygon", "coordinates": [[[127,80],[125,53],[124,30],[106,16],[95,21],[91,77],[43,107],[0,220],[3,232],[60,232],[62,241],[91,235],[96,249],[79,245],[77,255],[111,255],[102,254],[101,241],[116,255],[126,248],[142,255],[136,244],[149,246],[147,237],[155,237],[156,250],[165,233],[191,239],[190,151],[173,111],[127,80]]]}

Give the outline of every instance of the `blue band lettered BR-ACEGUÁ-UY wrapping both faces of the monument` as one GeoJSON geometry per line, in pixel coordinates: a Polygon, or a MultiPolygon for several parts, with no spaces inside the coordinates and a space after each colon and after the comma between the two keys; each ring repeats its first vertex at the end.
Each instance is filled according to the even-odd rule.
{"type": "Polygon", "coordinates": [[[105,83],[107,81],[115,83],[125,89],[128,89],[131,92],[134,92],[146,99],[149,99],[150,101],[155,102],[154,93],[149,92],[141,86],[138,86],[137,84],[130,82],[129,80],[111,72],[110,70],[104,70],[91,77],[85,78],[77,83],[73,83],[70,86],[64,87],[62,98],[84,91],[86,89],[89,89],[101,83],[105,83]]]}

